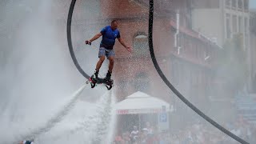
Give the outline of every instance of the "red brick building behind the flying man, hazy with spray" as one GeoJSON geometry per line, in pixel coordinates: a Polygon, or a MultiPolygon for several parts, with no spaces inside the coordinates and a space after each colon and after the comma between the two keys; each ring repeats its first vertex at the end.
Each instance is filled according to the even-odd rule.
{"type": "MultiPolygon", "coordinates": [[[[216,84],[219,81],[214,71],[216,56],[221,50],[212,39],[192,30],[191,2],[154,1],[154,53],[163,73],[175,88],[199,109],[206,110],[210,107],[211,98],[224,93],[222,85],[216,84]],[[216,86],[219,87],[213,89],[216,86]]],[[[190,111],[162,81],[150,58],[148,8],[146,0],[78,0],[72,21],[76,56],[83,70],[90,68],[92,73],[94,63],[88,61],[95,59],[91,51],[97,50],[88,54],[86,49],[84,54],[79,47],[84,45],[85,38],[91,38],[103,26],[110,25],[112,19],[118,19],[122,38],[134,47],[134,53],[129,54],[119,42],[114,46],[114,92],[118,101],[140,90],[170,102],[176,111],[171,118],[176,118],[177,122],[185,121],[186,117],[190,117],[190,111]]],[[[98,46],[98,42],[93,42],[94,46],[98,46]]],[[[225,113],[224,110],[222,113],[225,113]]]]}

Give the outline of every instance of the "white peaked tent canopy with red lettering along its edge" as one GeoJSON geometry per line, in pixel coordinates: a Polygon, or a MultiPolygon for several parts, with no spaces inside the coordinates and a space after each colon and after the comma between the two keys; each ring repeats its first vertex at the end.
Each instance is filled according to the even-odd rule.
{"type": "Polygon", "coordinates": [[[117,114],[149,114],[170,111],[169,103],[140,91],[115,104],[117,114]]]}

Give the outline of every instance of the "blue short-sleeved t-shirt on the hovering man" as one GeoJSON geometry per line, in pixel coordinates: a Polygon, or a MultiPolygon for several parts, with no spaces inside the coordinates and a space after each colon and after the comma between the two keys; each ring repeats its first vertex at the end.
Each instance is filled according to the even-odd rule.
{"type": "Polygon", "coordinates": [[[112,30],[111,26],[106,26],[101,30],[102,42],[101,47],[105,47],[108,50],[112,50],[115,42],[115,38],[120,38],[120,32],[118,29],[112,30]]]}

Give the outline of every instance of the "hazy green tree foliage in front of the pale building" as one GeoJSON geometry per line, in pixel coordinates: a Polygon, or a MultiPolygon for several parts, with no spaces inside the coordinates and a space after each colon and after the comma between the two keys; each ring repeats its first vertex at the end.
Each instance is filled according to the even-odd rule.
{"type": "Polygon", "coordinates": [[[218,77],[226,81],[226,86],[232,91],[242,90],[249,76],[246,50],[242,34],[226,41],[221,54],[218,55],[218,77]]]}

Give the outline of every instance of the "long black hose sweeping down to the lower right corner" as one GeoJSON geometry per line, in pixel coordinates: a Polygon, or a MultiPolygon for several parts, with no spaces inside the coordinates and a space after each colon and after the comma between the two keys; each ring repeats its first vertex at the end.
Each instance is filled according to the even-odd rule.
{"type": "Polygon", "coordinates": [[[242,138],[239,138],[238,136],[232,134],[229,130],[226,130],[224,127],[220,126],[217,122],[214,122],[213,119],[211,119],[208,116],[206,116],[206,114],[202,113],[201,110],[198,110],[198,108],[196,106],[194,106],[192,103],[190,103],[190,101],[188,101],[182,94],[180,94],[178,92],[178,90],[175,89],[175,87],[168,81],[168,79],[166,78],[165,74],[162,73],[162,70],[158,66],[158,62],[157,62],[157,60],[155,58],[155,55],[154,55],[154,47],[153,47],[153,39],[152,39],[152,35],[153,35],[153,21],[154,21],[153,20],[154,19],[154,0],[150,0],[149,10],[150,10],[150,13],[149,13],[149,46],[150,46],[150,55],[151,55],[152,62],[154,63],[154,67],[158,71],[158,74],[160,75],[162,80],[166,83],[166,85],[170,88],[170,90],[172,90],[174,92],[174,94],[176,94],[178,96],[178,98],[180,98],[182,100],[182,102],[184,102],[186,104],[186,106],[189,106],[192,110],[194,110],[194,112],[196,112],[198,115],[200,115],[202,118],[204,118],[207,122],[210,122],[210,124],[212,124],[213,126],[217,127],[218,130],[222,130],[223,133],[229,135],[231,138],[234,138],[238,142],[240,142],[242,144],[249,144],[248,142],[246,142],[242,138]]]}

